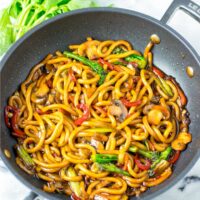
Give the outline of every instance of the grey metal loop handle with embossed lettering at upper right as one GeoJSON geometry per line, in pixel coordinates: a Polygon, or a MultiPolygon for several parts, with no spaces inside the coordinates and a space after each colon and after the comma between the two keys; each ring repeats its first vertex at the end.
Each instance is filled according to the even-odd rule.
{"type": "Polygon", "coordinates": [[[184,10],[191,17],[200,22],[200,5],[190,0],[174,0],[160,20],[161,23],[167,24],[174,12],[178,9],[184,10]]]}

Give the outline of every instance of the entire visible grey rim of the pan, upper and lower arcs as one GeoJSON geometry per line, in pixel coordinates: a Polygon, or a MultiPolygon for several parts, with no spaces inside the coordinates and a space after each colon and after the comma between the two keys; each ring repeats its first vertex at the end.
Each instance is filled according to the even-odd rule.
{"type": "MultiPolygon", "coordinates": [[[[13,54],[13,52],[15,51],[15,49],[20,46],[27,38],[29,38],[32,34],[34,34],[35,32],[37,32],[38,30],[44,28],[47,25],[50,25],[56,21],[59,21],[65,17],[70,17],[70,16],[74,16],[74,15],[78,15],[78,14],[87,14],[87,13],[102,13],[102,12],[110,12],[110,13],[117,13],[117,14],[124,14],[124,15],[129,15],[132,17],[139,17],[143,20],[146,20],[150,23],[154,23],[157,26],[161,27],[162,29],[164,29],[164,31],[169,32],[171,35],[173,35],[177,40],[179,40],[190,52],[190,54],[193,56],[193,58],[196,60],[196,62],[198,63],[199,67],[200,67],[200,56],[198,55],[198,53],[196,52],[196,50],[191,46],[191,44],[185,40],[179,33],[177,33],[175,30],[173,30],[171,27],[169,27],[168,25],[162,24],[160,21],[158,21],[157,19],[154,19],[150,16],[147,16],[145,14],[141,14],[139,12],[136,11],[132,11],[132,10],[127,10],[127,9],[122,9],[122,8],[105,8],[105,7],[101,7],[101,8],[85,8],[85,9],[79,9],[79,10],[75,10],[75,11],[71,11],[68,13],[63,13],[61,15],[58,15],[52,19],[49,19],[47,21],[44,21],[43,23],[39,24],[38,26],[34,27],[33,29],[31,29],[30,31],[28,31],[22,38],[20,38],[17,42],[15,42],[10,49],[7,51],[7,53],[3,56],[3,59],[0,62],[0,76],[1,76],[1,72],[4,68],[4,65],[6,64],[7,60],[9,60],[10,56],[13,54]]],[[[1,83],[0,83],[1,85],[1,83]]],[[[2,110],[2,109],[1,109],[2,110]]],[[[2,134],[2,133],[0,133],[2,134]]],[[[172,186],[174,186],[181,178],[184,177],[184,175],[186,175],[186,173],[191,169],[191,167],[195,164],[195,162],[198,160],[200,156],[200,149],[197,149],[197,152],[194,156],[194,158],[191,160],[191,162],[187,165],[187,167],[180,172],[180,174],[175,177],[175,180],[171,183],[169,183],[167,186],[165,186],[164,188],[159,189],[158,191],[153,192],[152,194],[147,195],[146,197],[142,197],[143,200],[147,200],[147,199],[152,199],[153,197],[159,196],[160,194],[164,193],[165,191],[167,191],[169,188],[171,188],[172,186]]],[[[28,188],[30,188],[31,190],[33,190],[34,192],[36,192],[37,194],[48,198],[48,199],[58,199],[57,197],[52,197],[51,194],[48,194],[44,191],[42,191],[42,189],[38,189],[35,186],[33,186],[30,182],[28,182],[25,178],[23,178],[22,176],[20,176],[20,173],[18,173],[14,167],[12,167],[8,160],[6,159],[2,149],[0,148],[0,157],[2,158],[3,162],[6,164],[6,166],[8,167],[8,169],[12,172],[12,174],[25,186],[27,186],[28,188]]]]}

